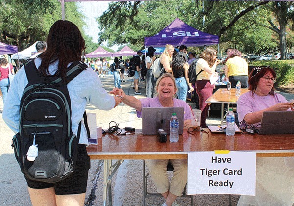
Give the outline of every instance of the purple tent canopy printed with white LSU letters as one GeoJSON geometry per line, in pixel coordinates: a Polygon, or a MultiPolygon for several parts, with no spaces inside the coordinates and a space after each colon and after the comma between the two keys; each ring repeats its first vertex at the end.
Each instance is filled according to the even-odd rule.
{"type": "Polygon", "coordinates": [[[169,26],[159,31],[158,34],[145,37],[144,42],[147,47],[164,47],[166,44],[203,47],[218,44],[219,37],[199,31],[176,18],[169,26]]]}

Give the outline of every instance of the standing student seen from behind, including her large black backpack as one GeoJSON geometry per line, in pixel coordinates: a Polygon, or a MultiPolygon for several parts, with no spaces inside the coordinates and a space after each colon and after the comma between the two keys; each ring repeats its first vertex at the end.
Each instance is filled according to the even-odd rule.
{"type": "Polygon", "coordinates": [[[2,117],[17,133],[13,141],[15,156],[25,174],[32,205],[81,206],[90,168],[88,139],[80,124],[86,104],[110,110],[121,100],[108,95],[98,75],[80,61],[85,41],[76,25],[58,20],[49,30],[47,44],[45,52],[15,75],[2,117]],[[26,98],[33,94],[35,99],[26,98]],[[61,120],[63,125],[57,124],[61,120]],[[67,143],[65,152],[60,149],[64,142],[67,143]],[[51,151],[54,155],[44,158],[51,151]],[[36,165],[40,161],[43,166],[36,165]],[[53,180],[50,168],[58,163],[67,165],[66,169],[72,173],[64,178],[53,176],[58,179],[53,180]],[[30,170],[36,167],[40,169],[31,174],[30,170]],[[43,167],[49,167],[49,172],[43,167]]]}

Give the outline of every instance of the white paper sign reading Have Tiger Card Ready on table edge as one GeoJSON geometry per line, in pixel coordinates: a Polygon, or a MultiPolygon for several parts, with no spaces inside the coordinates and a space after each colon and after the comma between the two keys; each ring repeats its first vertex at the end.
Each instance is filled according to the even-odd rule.
{"type": "Polygon", "coordinates": [[[256,153],[188,153],[188,194],[255,195],[256,153]]]}

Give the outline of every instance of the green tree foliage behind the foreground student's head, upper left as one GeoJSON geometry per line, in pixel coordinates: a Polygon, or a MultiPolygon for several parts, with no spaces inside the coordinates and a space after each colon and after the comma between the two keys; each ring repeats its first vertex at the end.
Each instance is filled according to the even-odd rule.
{"type": "MultiPolygon", "coordinates": [[[[95,48],[97,44],[83,30],[87,25],[85,16],[78,11],[78,4],[67,2],[65,10],[65,18],[81,30],[86,47],[95,48]]],[[[61,19],[61,4],[58,0],[5,0],[0,2],[0,13],[0,41],[18,45],[21,51],[35,41],[46,41],[52,24],[61,19]]]]}

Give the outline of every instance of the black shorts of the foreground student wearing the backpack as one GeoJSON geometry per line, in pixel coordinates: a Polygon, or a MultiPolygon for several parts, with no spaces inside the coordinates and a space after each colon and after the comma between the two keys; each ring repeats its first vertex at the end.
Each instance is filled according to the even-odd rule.
{"type": "Polygon", "coordinates": [[[90,169],[90,157],[87,154],[86,145],[78,145],[78,157],[76,168],[72,175],[57,183],[46,183],[29,180],[25,177],[27,186],[33,189],[46,189],[54,187],[56,195],[72,195],[85,193],[87,189],[88,172],[90,169]]]}

